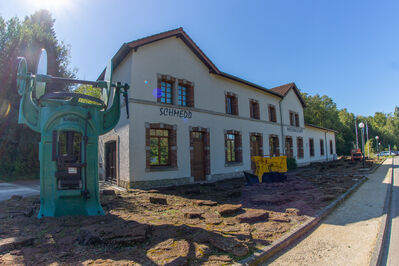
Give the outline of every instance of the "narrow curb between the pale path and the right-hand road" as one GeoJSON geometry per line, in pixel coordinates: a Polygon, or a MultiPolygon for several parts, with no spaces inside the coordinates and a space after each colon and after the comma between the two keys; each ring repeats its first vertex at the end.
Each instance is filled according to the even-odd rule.
{"type": "Polygon", "coordinates": [[[387,194],[385,196],[384,209],[382,211],[382,220],[380,224],[380,229],[377,235],[377,241],[373,250],[373,254],[371,255],[370,266],[381,265],[382,254],[383,254],[383,246],[386,240],[386,233],[388,230],[388,221],[391,217],[391,198],[392,198],[392,184],[393,184],[393,175],[394,175],[394,158],[392,159],[392,167],[391,167],[391,180],[387,187],[387,194]]]}

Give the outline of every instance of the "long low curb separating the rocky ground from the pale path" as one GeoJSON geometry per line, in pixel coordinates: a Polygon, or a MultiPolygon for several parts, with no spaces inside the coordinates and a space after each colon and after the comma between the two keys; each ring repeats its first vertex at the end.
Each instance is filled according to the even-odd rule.
{"type": "MultiPolygon", "coordinates": [[[[382,162],[383,163],[383,162],[382,162]]],[[[373,172],[369,172],[367,174],[374,173],[381,165],[379,164],[373,172]]],[[[258,265],[262,262],[265,262],[272,256],[276,255],[278,252],[282,251],[286,247],[288,247],[290,244],[304,236],[306,233],[309,231],[313,230],[316,228],[321,220],[323,220],[326,216],[328,216],[332,211],[335,210],[345,199],[347,199],[356,189],[358,189],[364,182],[368,180],[367,176],[364,176],[361,178],[357,183],[355,183],[353,186],[351,186],[344,194],[339,196],[337,199],[335,199],[333,202],[331,202],[327,207],[323,208],[320,210],[314,218],[312,218],[310,221],[305,222],[304,224],[300,225],[296,229],[294,229],[291,233],[283,236],[281,239],[276,241],[273,245],[267,246],[264,249],[255,252],[248,258],[239,261],[239,264],[244,264],[244,265],[258,265]]]]}

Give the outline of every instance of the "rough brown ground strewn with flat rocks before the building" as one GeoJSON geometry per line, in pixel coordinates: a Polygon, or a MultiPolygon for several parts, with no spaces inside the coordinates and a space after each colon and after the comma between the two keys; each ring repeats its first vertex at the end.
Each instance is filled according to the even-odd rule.
{"type": "Polygon", "coordinates": [[[360,167],[340,160],[284,183],[103,193],[102,217],[38,220],[39,198],[15,196],[0,202],[0,264],[233,264],[310,219],[363,176],[360,167]]]}

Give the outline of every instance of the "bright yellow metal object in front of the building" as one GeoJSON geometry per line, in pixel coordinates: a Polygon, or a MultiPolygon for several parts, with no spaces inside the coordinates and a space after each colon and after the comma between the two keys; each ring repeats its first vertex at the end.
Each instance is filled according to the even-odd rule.
{"type": "Polygon", "coordinates": [[[269,172],[287,172],[287,156],[262,157],[252,156],[252,161],[256,165],[255,175],[258,176],[259,183],[262,183],[262,176],[269,172]]]}

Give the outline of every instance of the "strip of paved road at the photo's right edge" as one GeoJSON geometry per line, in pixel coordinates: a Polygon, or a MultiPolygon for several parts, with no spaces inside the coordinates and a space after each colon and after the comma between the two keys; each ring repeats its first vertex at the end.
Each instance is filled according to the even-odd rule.
{"type": "Polygon", "coordinates": [[[391,219],[382,265],[399,265],[399,158],[395,158],[391,201],[391,219]]]}

